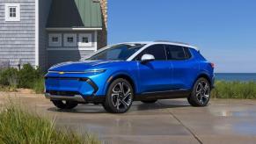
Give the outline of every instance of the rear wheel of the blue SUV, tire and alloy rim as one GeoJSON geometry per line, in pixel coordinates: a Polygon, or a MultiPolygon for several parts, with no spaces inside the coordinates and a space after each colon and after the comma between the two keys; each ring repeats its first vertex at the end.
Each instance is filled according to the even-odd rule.
{"type": "Polygon", "coordinates": [[[194,83],[194,88],[187,101],[192,106],[200,107],[207,106],[210,99],[210,84],[206,78],[199,78],[194,83]]]}

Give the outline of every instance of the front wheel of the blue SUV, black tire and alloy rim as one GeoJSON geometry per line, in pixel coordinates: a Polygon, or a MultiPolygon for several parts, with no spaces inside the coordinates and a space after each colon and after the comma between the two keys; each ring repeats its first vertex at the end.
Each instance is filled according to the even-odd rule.
{"type": "Polygon", "coordinates": [[[106,100],[103,104],[106,112],[124,113],[128,112],[134,98],[134,90],[130,83],[123,78],[119,78],[110,84],[106,100]]]}

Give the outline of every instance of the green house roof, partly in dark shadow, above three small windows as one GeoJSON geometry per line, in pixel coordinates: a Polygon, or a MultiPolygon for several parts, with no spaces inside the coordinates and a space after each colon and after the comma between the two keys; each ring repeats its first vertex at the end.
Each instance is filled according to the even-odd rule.
{"type": "Polygon", "coordinates": [[[100,4],[93,0],[53,0],[47,28],[101,28],[100,4]]]}

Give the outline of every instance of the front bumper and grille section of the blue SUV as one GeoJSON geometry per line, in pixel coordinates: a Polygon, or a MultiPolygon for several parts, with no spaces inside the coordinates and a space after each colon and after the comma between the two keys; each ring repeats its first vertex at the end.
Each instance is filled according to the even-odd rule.
{"type": "Polygon", "coordinates": [[[96,96],[99,87],[86,76],[45,76],[45,97],[77,103],[102,103],[104,95],[96,96]]]}

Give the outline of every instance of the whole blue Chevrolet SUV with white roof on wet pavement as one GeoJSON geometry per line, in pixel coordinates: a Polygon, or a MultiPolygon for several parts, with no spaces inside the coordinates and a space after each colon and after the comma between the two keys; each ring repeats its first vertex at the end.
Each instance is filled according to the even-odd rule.
{"type": "Polygon", "coordinates": [[[214,65],[187,44],[129,42],[49,68],[45,86],[45,96],[60,109],[91,103],[123,113],[133,101],[179,97],[187,97],[193,106],[206,106],[214,87],[214,65]]]}

